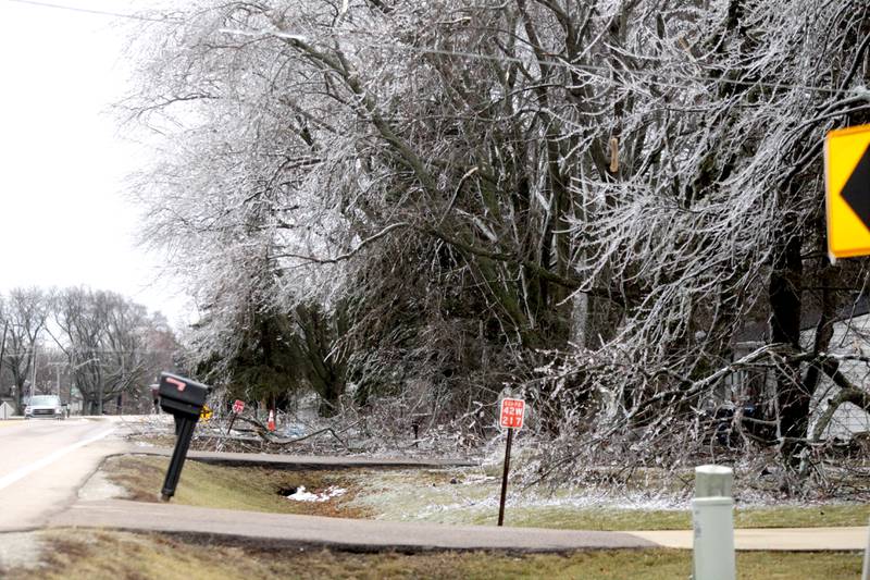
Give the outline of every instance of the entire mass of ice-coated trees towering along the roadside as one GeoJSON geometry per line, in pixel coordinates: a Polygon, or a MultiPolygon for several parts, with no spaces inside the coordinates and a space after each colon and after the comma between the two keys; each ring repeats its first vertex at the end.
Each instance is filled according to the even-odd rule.
{"type": "Polygon", "coordinates": [[[550,434],[641,460],[697,447],[754,366],[775,383],[756,434],[801,453],[865,277],[825,262],[819,161],[867,118],[862,2],[184,7],[147,25],[125,107],[169,137],[137,195],[203,358],[253,314],[340,304],[315,357],[363,398],[425,381],[428,412],[476,411],[525,385],[550,434]]]}

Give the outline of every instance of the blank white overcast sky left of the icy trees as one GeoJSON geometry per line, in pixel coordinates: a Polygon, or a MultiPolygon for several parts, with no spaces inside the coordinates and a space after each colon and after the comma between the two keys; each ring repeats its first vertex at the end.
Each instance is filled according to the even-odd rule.
{"type": "MultiPolygon", "coordinates": [[[[57,0],[132,13],[147,2],[57,0]]],[[[0,0],[0,292],[15,286],[111,289],[189,319],[136,247],[137,211],[124,178],[147,159],[119,133],[109,106],[129,70],[115,20],[0,0]]]]}

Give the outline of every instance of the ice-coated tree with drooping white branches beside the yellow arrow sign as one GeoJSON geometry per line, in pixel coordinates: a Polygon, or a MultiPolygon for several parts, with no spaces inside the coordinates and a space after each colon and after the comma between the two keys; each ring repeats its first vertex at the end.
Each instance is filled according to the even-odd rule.
{"type": "MultiPolygon", "coordinates": [[[[825,129],[868,119],[870,14],[813,1],[611,10],[599,41],[566,59],[575,79],[554,83],[597,123],[572,132],[587,144],[569,218],[585,349],[545,394],[609,453],[667,461],[705,441],[716,387],[763,369],[772,388],[719,397],[734,397],[734,427],[753,427],[744,436],[775,442],[792,462],[820,375],[845,381],[825,350],[866,277],[861,263],[826,261],[820,153],[825,129]],[[801,345],[808,314],[815,338],[801,345]],[[735,356],[747,340],[757,348],[735,356]],[[760,417],[742,417],[748,403],[760,417]]],[[[542,52],[570,38],[552,29],[542,52]]]]}

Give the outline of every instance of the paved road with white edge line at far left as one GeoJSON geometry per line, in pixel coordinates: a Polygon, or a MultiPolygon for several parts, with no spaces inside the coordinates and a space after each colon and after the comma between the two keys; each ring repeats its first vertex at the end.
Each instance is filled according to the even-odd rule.
{"type": "Polygon", "coordinates": [[[102,459],[123,443],[102,420],[0,421],[0,532],[29,530],[76,501],[102,459]]]}

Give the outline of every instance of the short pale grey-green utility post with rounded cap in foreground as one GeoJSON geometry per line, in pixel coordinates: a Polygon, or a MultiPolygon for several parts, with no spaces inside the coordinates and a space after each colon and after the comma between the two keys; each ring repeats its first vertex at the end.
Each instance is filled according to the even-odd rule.
{"type": "Polygon", "coordinates": [[[734,580],[734,472],[729,467],[695,468],[693,580],[734,580]]]}

